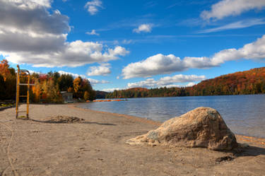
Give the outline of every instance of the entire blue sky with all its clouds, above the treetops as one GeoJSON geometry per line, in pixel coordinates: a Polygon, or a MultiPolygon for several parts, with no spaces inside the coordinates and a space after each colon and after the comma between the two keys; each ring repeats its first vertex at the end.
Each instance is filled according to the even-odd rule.
{"type": "Polygon", "coordinates": [[[265,0],[0,0],[0,58],[95,90],[192,86],[265,66],[265,0]]]}

